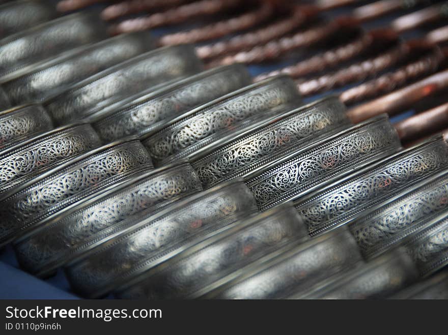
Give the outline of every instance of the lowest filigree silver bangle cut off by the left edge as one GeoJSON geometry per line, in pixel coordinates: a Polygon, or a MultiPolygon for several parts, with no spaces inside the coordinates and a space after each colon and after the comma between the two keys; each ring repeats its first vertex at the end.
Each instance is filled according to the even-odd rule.
{"type": "Polygon", "coordinates": [[[123,140],[78,155],[0,197],[0,244],[55,212],[151,167],[137,140],[123,140]]]}

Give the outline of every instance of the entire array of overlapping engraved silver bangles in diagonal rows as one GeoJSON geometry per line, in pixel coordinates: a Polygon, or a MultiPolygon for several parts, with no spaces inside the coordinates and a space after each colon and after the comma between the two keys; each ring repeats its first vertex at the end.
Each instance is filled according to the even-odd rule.
{"type": "Polygon", "coordinates": [[[448,297],[442,136],[403,149],[385,114],[91,15],[0,40],[0,246],[24,270],[84,297],[448,297]]]}

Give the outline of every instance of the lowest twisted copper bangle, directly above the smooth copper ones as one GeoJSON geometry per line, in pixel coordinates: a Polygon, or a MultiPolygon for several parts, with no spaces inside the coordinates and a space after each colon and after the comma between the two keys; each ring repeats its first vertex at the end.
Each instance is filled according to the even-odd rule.
{"type": "Polygon", "coordinates": [[[403,86],[409,80],[435,72],[443,59],[444,55],[440,48],[435,47],[429,55],[425,55],[397,71],[384,74],[379,78],[346,90],[341,94],[340,99],[346,105],[351,105],[380,94],[391,92],[403,86]]]}

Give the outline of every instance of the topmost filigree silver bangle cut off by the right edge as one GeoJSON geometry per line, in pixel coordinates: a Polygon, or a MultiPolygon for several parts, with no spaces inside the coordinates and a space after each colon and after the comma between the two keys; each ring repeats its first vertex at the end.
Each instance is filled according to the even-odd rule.
{"type": "Polygon", "coordinates": [[[363,211],[448,167],[448,145],[436,136],[298,199],[311,235],[350,223],[363,211]]]}

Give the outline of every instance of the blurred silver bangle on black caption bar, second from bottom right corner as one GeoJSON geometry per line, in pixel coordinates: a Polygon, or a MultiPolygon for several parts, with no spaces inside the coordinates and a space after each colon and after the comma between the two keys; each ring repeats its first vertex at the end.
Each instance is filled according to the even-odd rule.
{"type": "Polygon", "coordinates": [[[382,255],[344,273],[311,294],[295,299],[383,299],[412,284],[418,272],[412,259],[402,249],[382,255]]]}

